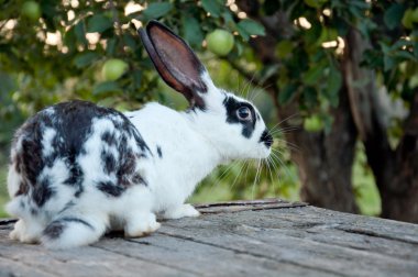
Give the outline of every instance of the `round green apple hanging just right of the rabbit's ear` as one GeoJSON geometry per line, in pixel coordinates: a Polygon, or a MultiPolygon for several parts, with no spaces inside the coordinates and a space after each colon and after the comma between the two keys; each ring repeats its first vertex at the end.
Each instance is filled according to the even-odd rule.
{"type": "Polygon", "coordinates": [[[233,47],[233,35],[221,29],[217,29],[206,36],[208,49],[218,56],[227,56],[233,47]]]}

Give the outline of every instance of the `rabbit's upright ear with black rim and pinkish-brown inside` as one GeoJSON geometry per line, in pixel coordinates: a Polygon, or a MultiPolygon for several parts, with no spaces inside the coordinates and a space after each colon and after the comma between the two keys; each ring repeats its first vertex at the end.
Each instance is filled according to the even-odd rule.
{"type": "Polygon", "coordinates": [[[157,21],[151,21],[139,33],[164,81],[183,93],[191,106],[204,108],[197,92],[208,90],[201,78],[206,69],[187,43],[157,21]]]}

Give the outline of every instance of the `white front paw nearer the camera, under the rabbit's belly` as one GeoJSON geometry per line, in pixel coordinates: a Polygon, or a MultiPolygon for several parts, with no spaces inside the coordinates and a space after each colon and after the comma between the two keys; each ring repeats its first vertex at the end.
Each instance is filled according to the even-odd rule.
{"type": "Polygon", "coordinates": [[[156,231],[161,224],[156,221],[154,213],[136,214],[127,221],[124,235],[127,237],[145,236],[156,231]]]}

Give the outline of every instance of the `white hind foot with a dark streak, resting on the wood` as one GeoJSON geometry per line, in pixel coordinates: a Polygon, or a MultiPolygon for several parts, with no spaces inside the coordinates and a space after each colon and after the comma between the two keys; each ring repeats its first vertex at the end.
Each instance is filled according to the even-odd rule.
{"type": "Polygon", "coordinates": [[[107,221],[100,217],[62,217],[52,221],[43,231],[41,242],[53,250],[88,245],[106,232],[107,221]]]}

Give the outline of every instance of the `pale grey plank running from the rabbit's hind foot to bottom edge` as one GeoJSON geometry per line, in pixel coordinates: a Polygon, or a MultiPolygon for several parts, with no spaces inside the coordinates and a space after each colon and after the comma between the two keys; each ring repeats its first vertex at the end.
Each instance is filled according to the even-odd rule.
{"type": "Polygon", "coordinates": [[[98,247],[169,267],[187,269],[196,276],[275,276],[278,272],[285,272],[287,276],[300,276],[300,274],[338,276],[170,236],[162,232],[144,239],[106,240],[98,247]],[[139,246],[132,247],[132,244],[139,246]]]}

